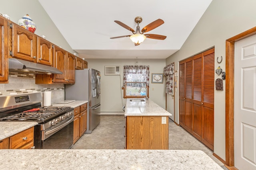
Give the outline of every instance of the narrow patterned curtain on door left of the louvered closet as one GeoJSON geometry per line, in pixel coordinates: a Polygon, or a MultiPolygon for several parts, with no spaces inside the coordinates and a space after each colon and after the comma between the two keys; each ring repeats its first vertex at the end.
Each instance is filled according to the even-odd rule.
{"type": "Polygon", "coordinates": [[[168,94],[173,94],[173,75],[174,74],[174,63],[164,67],[164,76],[166,76],[166,90],[168,94]]]}

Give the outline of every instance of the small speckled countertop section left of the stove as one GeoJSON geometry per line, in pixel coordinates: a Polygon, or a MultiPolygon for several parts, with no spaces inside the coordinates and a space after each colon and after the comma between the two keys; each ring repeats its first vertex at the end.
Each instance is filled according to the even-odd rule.
{"type": "Polygon", "coordinates": [[[0,122],[0,140],[15,135],[21,131],[24,131],[38,123],[35,121],[26,121],[26,122],[7,122],[1,121],[0,122]]]}

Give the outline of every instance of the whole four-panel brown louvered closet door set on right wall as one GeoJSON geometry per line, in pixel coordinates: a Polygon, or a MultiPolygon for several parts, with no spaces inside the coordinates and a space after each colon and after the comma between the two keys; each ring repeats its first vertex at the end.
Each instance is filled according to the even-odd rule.
{"type": "Polygon", "coordinates": [[[179,63],[179,123],[214,150],[214,48],[179,63]]]}

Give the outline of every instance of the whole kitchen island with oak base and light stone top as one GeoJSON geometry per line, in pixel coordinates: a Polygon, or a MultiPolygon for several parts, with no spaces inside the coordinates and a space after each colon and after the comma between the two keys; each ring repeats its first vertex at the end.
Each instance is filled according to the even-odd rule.
{"type": "Polygon", "coordinates": [[[171,115],[150,99],[127,99],[125,148],[168,149],[168,117],[171,115]]]}

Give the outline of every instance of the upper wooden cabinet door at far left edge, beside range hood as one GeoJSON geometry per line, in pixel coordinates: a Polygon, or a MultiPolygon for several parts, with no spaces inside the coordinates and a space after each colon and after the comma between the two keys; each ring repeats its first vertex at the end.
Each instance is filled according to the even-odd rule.
{"type": "Polygon", "coordinates": [[[0,83],[8,81],[8,23],[0,17],[0,83]]]}

